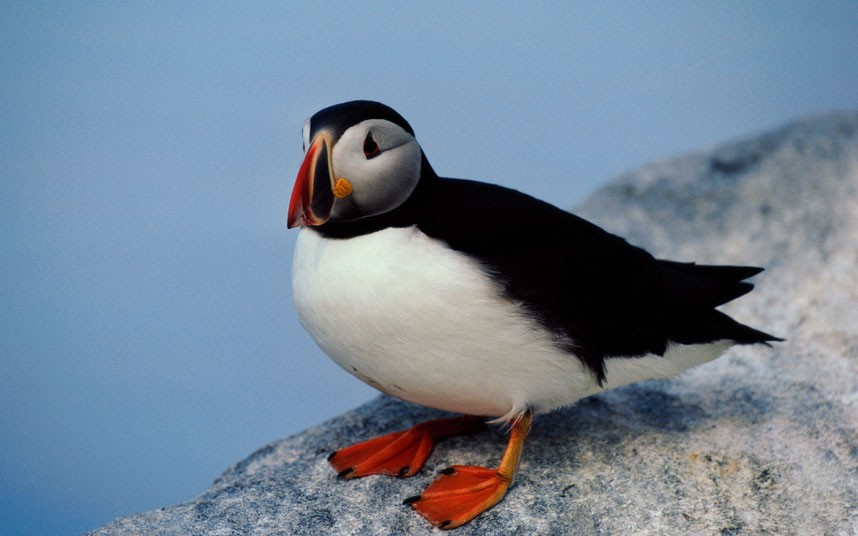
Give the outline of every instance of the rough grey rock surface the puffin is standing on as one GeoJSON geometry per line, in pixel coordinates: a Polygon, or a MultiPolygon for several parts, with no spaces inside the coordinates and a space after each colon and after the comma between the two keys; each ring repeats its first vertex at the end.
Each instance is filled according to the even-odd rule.
{"type": "MultiPolygon", "coordinates": [[[[765,266],[724,309],[788,341],[542,416],[506,499],[455,533],[858,533],[858,113],[651,164],[576,212],[659,256],[765,266]]],[[[338,481],[325,459],[438,415],[378,398],[92,534],[440,532],[402,499],[495,465],[501,430],[440,444],[410,479],[338,481]]]]}

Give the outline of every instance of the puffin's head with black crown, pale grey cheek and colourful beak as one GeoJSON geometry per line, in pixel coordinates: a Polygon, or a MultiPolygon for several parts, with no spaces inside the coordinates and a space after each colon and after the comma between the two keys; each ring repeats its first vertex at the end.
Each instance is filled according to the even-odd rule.
{"type": "Polygon", "coordinates": [[[372,101],[336,104],[304,122],[304,162],[288,226],[348,222],[389,212],[420,180],[422,151],[411,125],[372,101]]]}

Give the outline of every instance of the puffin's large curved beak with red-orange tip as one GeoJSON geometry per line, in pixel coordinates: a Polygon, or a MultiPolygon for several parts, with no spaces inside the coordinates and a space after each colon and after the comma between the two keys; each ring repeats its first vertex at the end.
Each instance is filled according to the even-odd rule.
{"type": "Polygon", "coordinates": [[[331,169],[331,138],[321,133],[307,149],[298,170],[292,199],[289,201],[287,226],[321,225],[328,221],[334,205],[334,173],[331,169]]]}

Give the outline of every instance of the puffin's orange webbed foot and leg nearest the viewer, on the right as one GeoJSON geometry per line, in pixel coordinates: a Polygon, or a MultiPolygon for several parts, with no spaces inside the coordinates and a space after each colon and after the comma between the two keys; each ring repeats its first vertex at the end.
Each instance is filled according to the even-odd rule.
{"type": "Polygon", "coordinates": [[[527,412],[513,424],[497,469],[454,465],[441,471],[422,494],[405,499],[405,504],[442,529],[464,525],[496,505],[512,484],[532,422],[533,415],[527,412]]]}

